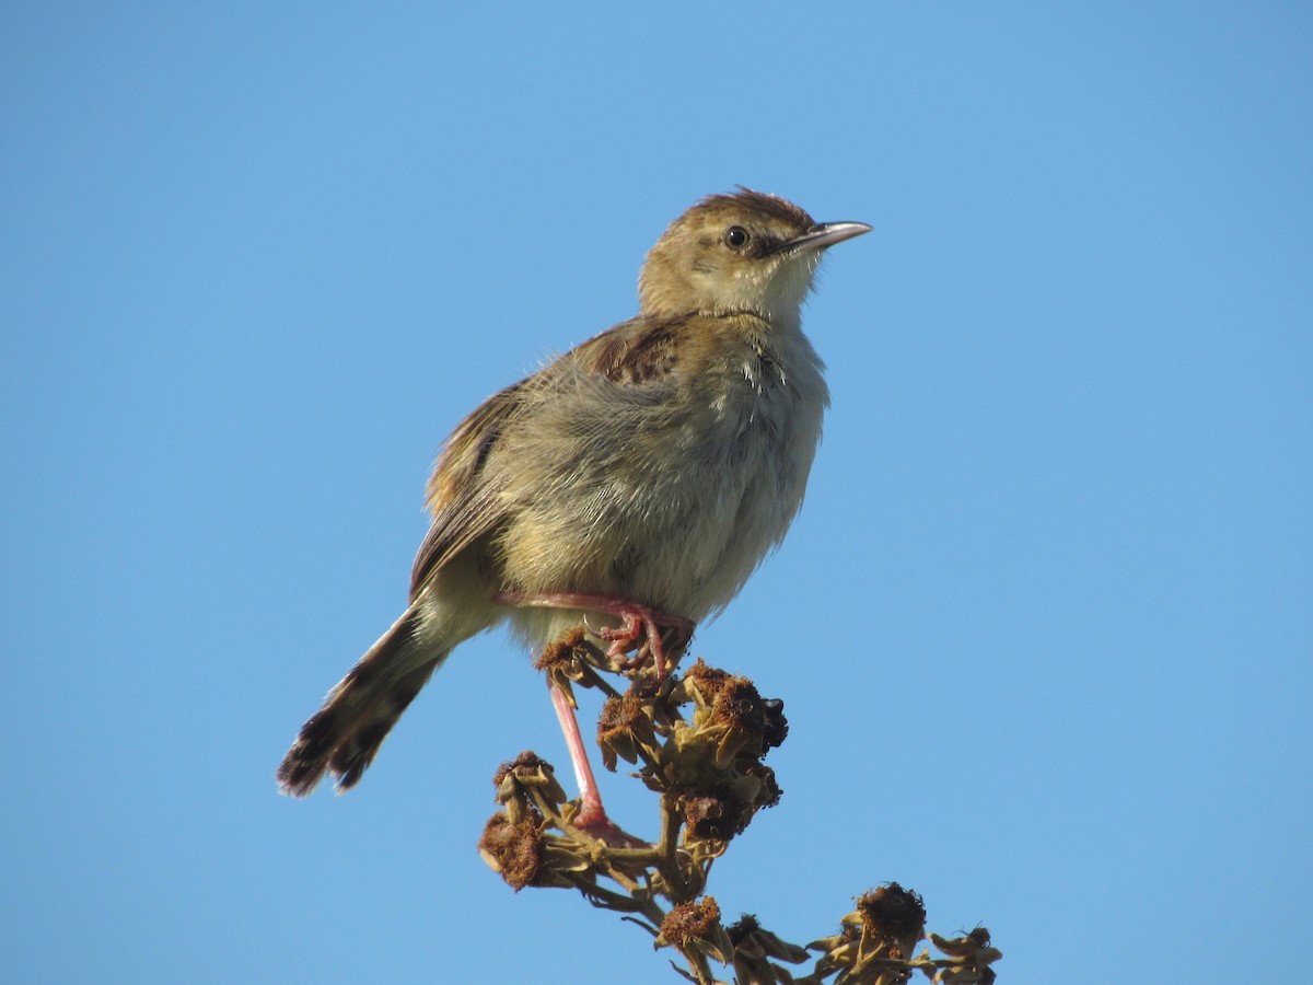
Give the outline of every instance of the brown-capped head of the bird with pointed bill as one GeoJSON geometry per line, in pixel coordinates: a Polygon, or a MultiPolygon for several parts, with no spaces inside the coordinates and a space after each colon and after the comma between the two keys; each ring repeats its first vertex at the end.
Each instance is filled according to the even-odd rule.
{"type": "Polygon", "coordinates": [[[713,194],[647,253],[642,314],[751,311],[796,324],[825,248],[869,231],[863,222],[815,222],[793,202],[746,188],[713,194]]]}

